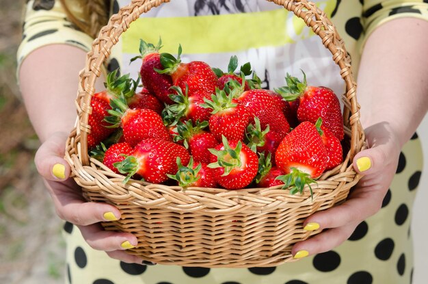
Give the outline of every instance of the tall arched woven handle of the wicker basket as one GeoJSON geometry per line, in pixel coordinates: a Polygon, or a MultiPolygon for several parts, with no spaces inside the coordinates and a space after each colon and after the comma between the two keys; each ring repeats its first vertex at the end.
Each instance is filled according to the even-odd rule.
{"type": "MultiPolygon", "coordinates": [[[[110,55],[111,48],[118,42],[120,35],[129,28],[129,25],[143,13],[170,0],[133,0],[120,9],[118,14],[111,16],[109,23],[101,29],[98,38],[92,43],[92,50],[86,57],[85,68],[79,73],[79,91],[77,94],[77,125],[74,140],[75,149],[80,150],[80,159],[83,166],[89,165],[88,133],[90,126],[88,118],[92,112],[91,98],[95,92],[95,81],[101,75],[101,66],[110,55]]],[[[326,49],[332,55],[334,62],[340,67],[340,75],[345,81],[346,92],[343,94],[345,109],[343,112],[344,124],[351,129],[350,160],[360,151],[363,144],[362,127],[360,125],[360,106],[356,99],[356,81],[351,71],[351,60],[345,49],[343,40],[325,12],[317,8],[315,3],[307,0],[267,0],[283,6],[302,18],[306,25],[317,34],[326,49]]],[[[346,130],[346,129],[345,129],[346,130]]]]}

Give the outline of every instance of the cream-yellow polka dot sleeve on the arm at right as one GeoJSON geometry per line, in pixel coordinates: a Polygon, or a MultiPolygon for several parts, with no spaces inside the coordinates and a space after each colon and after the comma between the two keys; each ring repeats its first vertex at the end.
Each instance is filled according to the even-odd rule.
{"type": "MultiPolygon", "coordinates": [[[[421,18],[428,21],[427,0],[366,0],[363,5],[362,25],[365,38],[384,23],[396,18],[421,18]]],[[[363,44],[364,45],[364,44],[363,44]]]]}

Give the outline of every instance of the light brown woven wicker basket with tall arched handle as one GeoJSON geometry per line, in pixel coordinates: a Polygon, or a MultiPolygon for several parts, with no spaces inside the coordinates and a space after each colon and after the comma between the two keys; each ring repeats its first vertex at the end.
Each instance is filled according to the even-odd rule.
{"type": "Polygon", "coordinates": [[[66,146],[72,175],[88,201],[115,205],[121,220],[104,222],[106,230],[133,233],[138,246],[129,253],[160,264],[207,268],[278,266],[294,261],[291,247],[318,231],[304,231],[302,224],[315,211],[334,206],[347,198],[360,176],[352,167],[353,156],[365,146],[356,101],[356,82],[351,62],[334,25],[314,3],[306,0],[272,0],[303,18],[317,34],[340,67],[346,83],[343,94],[345,140],[350,150],[343,164],[325,172],[312,185],[313,200],[289,190],[251,188],[224,190],[182,188],[130,180],[114,174],[88,157],[88,116],[95,80],[111,48],[140,14],[168,0],[133,0],[113,15],[94,40],[85,69],[80,73],[77,97],[78,118],[66,146]]]}

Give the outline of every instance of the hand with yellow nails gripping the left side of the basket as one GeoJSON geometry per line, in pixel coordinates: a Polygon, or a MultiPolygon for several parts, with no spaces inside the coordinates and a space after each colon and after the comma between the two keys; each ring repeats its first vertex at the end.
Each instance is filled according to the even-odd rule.
{"type": "Polygon", "coordinates": [[[96,250],[127,263],[142,263],[142,259],[124,252],[137,245],[131,233],[104,231],[99,222],[120,218],[120,211],[107,203],[87,202],[81,188],[70,176],[70,166],[64,159],[68,133],[51,135],[36,153],[36,167],[44,178],[59,218],[77,225],[83,238],[96,250]]]}

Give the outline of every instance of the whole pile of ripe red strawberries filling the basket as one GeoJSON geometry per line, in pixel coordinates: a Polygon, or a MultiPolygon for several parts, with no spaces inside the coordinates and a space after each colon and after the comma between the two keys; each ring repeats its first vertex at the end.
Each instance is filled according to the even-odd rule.
{"type": "MultiPolygon", "coordinates": [[[[332,90],[287,75],[260,88],[249,63],[228,71],[181,62],[141,40],[139,80],[109,74],[92,97],[90,155],[129,179],[238,190],[302,192],[343,162],[343,118],[332,90]],[[249,78],[249,79],[248,79],[249,78]]],[[[312,192],[312,190],[311,190],[312,192]]]]}

